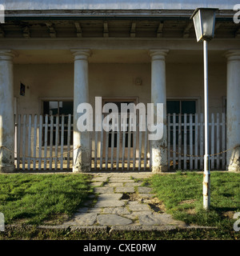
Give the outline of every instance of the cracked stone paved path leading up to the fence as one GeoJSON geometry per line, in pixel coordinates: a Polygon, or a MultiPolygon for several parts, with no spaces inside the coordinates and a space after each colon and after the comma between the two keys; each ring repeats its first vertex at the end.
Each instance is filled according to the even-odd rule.
{"type": "Polygon", "coordinates": [[[123,230],[158,230],[186,227],[184,222],[166,214],[162,202],[152,194],[150,187],[142,186],[135,178],[147,178],[152,173],[101,173],[94,174],[92,186],[98,200],[86,202],[70,226],[110,226],[123,230]]]}

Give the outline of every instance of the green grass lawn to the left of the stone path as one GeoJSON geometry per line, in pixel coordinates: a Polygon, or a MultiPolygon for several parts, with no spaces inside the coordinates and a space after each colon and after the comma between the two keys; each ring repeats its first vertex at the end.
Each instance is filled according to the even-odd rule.
{"type": "Polygon", "coordinates": [[[1,174],[0,212],[5,223],[62,221],[93,192],[86,174],[1,174]]]}

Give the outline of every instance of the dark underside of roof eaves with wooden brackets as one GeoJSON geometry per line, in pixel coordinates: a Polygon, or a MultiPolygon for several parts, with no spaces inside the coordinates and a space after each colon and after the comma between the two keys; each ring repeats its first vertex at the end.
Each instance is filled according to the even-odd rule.
{"type": "MultiPolygon", "coordinates": [[[[12,14],[0,24],[2,38],[195,38],[190,14],[154,17],[85,17],[30,18],[12,14]]],[[[105,14],[106,15],[106,14],[105,14]]],[[[172,14],[173,15],[173,14],[172,14]]],[[[238,38],[240,24],[228,17],[216,19],[216,38],[238,38]]]]}

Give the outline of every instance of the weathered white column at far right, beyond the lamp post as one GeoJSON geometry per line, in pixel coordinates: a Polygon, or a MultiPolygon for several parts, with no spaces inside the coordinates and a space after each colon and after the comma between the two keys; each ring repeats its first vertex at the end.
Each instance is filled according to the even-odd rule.
{"type": "Polygon", "coordinates": [[[226,166],[230,171],[240,171],[240,50],[226,54],[226,166]]]}

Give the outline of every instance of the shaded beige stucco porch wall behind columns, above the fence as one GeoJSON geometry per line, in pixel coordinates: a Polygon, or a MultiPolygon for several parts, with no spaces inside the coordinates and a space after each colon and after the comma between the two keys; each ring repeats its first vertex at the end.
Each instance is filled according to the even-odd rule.
{"type": "MultiPolygon", "coordinates": [[[[94,97],[137,96],[139,102],[150,102],[150,63],[89,65],[90,103],[94,97]],[[142,79],[142,85],[135,83],[142,79]]],[[[210,66],[210,112],[222,112],[226,96],[226,64],[210,66]]],[[[42,114],[42,98],[74,97],[73,64],[14,65],[14,96],[18,98],[18,114],[42,114]],[[26,86],[25,96],[19,95],[20,82],[26,86]]],[[[166,63],[167,98],[197,98],[198,111],[203,110],[202,64],[166,63]]]]}

